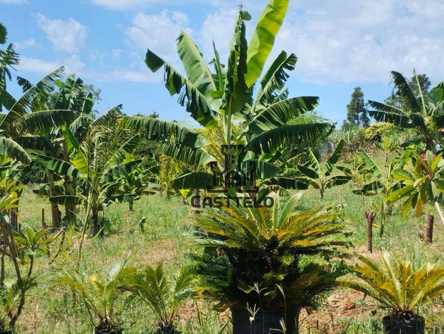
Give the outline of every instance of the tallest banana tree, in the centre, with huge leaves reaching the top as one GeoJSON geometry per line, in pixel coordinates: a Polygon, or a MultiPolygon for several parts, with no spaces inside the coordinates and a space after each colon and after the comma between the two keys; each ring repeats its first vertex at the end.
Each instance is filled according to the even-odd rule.
{"type": "MultiPolygon", "coordinates": [[[[148,68],[153,72],[163,68],[166,89],[171,95],[178,94],[178,103],[208,130],[206,133],[153,118],[127,116],[121,122],[128,128],[144,130],[150,138],[165,141],[163,152],[189,165],[212,163],[218,171],[231,171],[238,168],[240,161],[242,166],[255,161],[258,179],[275,179],[284,184],[285,180],[279,180],[277,168],[268,160],[291,143],[328,135],[333,129],[333,123],[328,122],[287,125],[291,118],[313,110],[319,101],[314,96],[288,97],[284,86],[288,72],[297,62],[296,55],[282,51],[260,78],[288,3],[289,0],[270,0],[249,43],[245,21],[251,16],[240,8],[226,65],[221,63],[213,44],[214,72],[184,31],[178,36],[177,50],[186,76],[150,49],[147,51],[148,68]]],[[[213,186],[213,181],[212,174],[198,171],[178,177],[172,185],[177,189],[195,189],[213,186]]],[[[287,183],[297,185],[294,181],[287,183]]]]}

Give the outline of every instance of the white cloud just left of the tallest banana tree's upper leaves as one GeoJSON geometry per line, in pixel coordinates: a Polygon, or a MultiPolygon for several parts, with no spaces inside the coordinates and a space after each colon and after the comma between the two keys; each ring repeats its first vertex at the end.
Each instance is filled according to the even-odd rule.
{"type": "Polygon", "coordinates": [[[166,9],[159,14],[139,12],[133,16],[131,23],[132,26],[125,29],[125,35],[133,46],[144,51],[149,48],[174,65],[178,60],[177,36],[182,29],[189,35],[193,32],[187,28],[189,20],[186,13],[166,9]]]}

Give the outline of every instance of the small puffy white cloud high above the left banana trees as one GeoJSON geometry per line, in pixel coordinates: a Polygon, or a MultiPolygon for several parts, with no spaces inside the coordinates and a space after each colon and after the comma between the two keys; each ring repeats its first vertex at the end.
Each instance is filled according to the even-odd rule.
{"type": "Polygon", "coordinates": [[[88,29],[73,18],[51,20],[38,13],[36,19],[37,26],[46,33],[54,50],[73,53],[83,46],[88,29]]]}

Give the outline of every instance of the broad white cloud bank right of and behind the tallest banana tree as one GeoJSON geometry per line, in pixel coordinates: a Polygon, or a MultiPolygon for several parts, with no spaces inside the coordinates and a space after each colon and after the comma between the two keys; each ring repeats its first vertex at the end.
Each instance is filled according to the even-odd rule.
{"type": "MultiPolygon", "coordinates": [[[[256,12],[250,12],[247,36],[258,19],[256,12]]],[[[386,84],[389,71],[409,76],[413,67],[436,83],[444,77],[443,12],[439,0],[427,6],[417,0],[290,2],[269,63],[281,50],[294,52],[299,60],[293,78],[311,83],[386,84]]],[[[213,53],[214,38],[222,62],[226,61],[234,19],[233,12],[221,9],[209,14],[195,33],[206,60],[213,53]]]]}

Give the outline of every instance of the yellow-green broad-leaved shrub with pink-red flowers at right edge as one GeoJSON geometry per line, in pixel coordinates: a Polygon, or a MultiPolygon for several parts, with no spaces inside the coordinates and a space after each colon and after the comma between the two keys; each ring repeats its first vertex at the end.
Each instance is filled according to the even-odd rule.
{"type": "Polygon", "coordinates": [[[394,169],[392,176],[402,181],[403,187],[389,193],[385,200],[395,203],[407,197],[401,206],[403,216],[411,208],[416,210],[416,216],[423,214],[424,204],[434,203],[441,222],[444,225],[444,215],[438,202],[438,193],[444,192],[444,160],[442,152],[435,156],[430,150],[426,153],[413,153],[413,173],[405,169],[394,169]]]}

